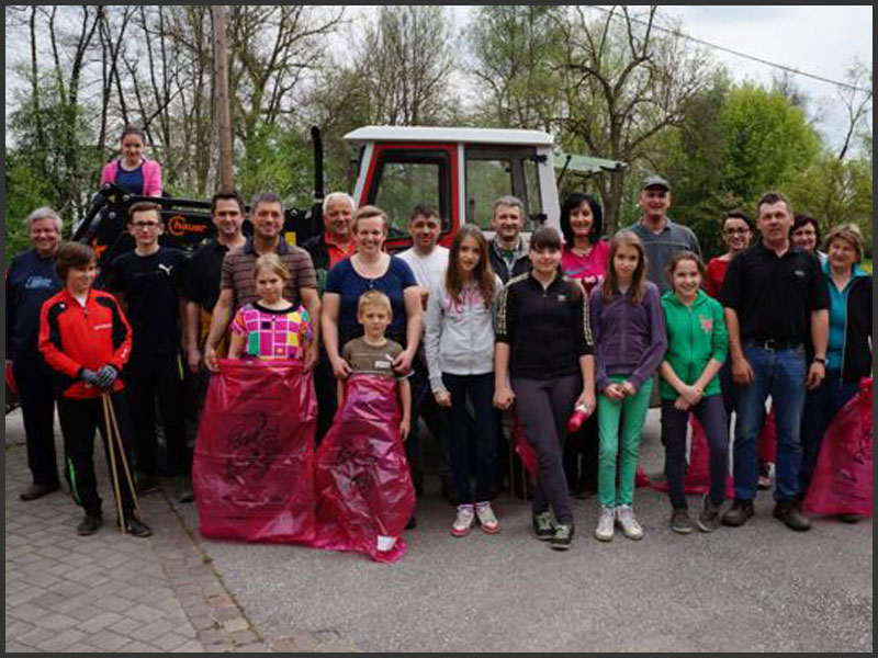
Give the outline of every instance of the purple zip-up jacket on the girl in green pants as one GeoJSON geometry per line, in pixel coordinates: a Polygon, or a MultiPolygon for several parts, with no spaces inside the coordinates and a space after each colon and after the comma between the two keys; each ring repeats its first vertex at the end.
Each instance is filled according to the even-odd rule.
{"type": "Polygon", "coordinates": [[[665,315],[654,283],[646,282],[640,304],[631,303],[631,290],[604,299],[603,286],[590,295],[595,334],[595,383],[603,392],[610,375],[621,375],[638,388],[655,373],[667,349],[665,315]]]}

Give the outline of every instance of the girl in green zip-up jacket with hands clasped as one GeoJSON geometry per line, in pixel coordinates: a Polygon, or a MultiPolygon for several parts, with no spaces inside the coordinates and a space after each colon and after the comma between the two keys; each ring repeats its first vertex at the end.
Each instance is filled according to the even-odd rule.
{"type": "Polygon", "coordinates": [[[667,264],[671,288],[662,295],[667,327],[667,353],[660,366],[662,381],[662,444],[669,487],[671,530],[693,531],[684,496],[686,424],[691,410],[705,429],[710,446],[710,494],[698,517],[698,529],[716,530],[719,508],[725,500],[729,428],[722,402],[719,372],[725,360],[729,336],[720,303],[700,290],[705,264],[689,251],[675,253],[667,264]]]}

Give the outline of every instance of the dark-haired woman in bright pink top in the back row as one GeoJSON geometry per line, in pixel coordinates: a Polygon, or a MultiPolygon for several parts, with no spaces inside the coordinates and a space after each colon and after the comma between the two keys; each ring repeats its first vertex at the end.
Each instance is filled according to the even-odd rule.
{"type": "MultiPolygon", "coordinates": [[[[561,207],[561,234],[564,249],[561,269],[567,280],[578,281],[585,294],[592,292],[607,274],[610,243],[601,239],[604,212],[590,194],[574,192],[561,207]]],[[[579,431],[564,443],[564,473],[567,485],[577,498],[597,491],[597,417],[589,416],[579,431]]]]}

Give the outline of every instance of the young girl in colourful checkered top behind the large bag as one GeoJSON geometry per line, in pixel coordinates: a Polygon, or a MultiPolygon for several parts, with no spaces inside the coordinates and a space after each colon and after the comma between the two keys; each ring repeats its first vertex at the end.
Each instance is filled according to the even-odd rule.
{"type": "Polygon", "coordinates": [[[266,253],[254,265],[258,302],[247,304],[232,322],[229,359],[244,356],[304,361],[313,349],[311,316],[304,306],[294,306],[283,297],[290,271],[277,253],[266,253]]]}

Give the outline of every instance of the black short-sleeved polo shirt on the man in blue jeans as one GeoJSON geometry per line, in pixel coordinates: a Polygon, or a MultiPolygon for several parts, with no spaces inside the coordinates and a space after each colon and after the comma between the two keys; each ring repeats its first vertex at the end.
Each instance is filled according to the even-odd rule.
{"type": "Polygon", "coordinates": [[[829,307],[817,257],[792,245],[778,257],[762,240],[729,263],[720,299],[738,314],[742,340],[806,342],[811,311],[829,307]]]}

